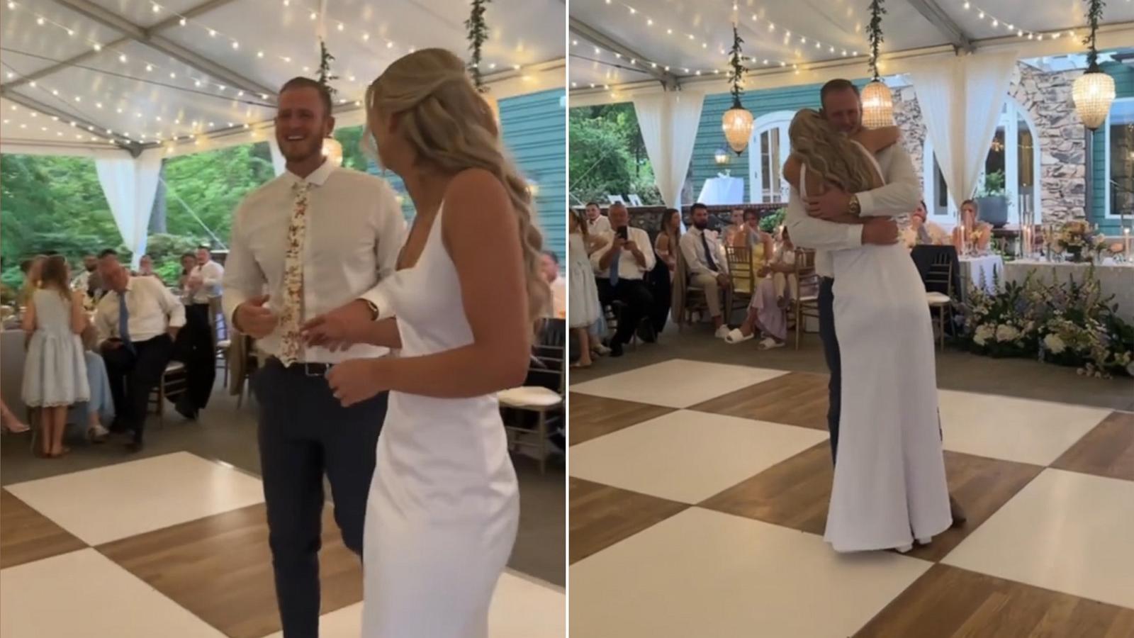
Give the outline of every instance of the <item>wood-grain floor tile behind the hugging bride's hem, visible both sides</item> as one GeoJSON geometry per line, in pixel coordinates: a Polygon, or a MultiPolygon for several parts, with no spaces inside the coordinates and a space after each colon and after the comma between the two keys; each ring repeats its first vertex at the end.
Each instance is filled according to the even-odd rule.
{"type": "MultiPolygon", "coordinates": [[[[936,536],[929,545],[915,547],[911,556],[940,561],[1042,471],[1036,465],[956,452],[945,453],[945,469],[949,492],[964,507],[968,521],[936,536]]],[[[822,535],[832,479],[830,447],[823,443],[700,506],[822,535]]]]}

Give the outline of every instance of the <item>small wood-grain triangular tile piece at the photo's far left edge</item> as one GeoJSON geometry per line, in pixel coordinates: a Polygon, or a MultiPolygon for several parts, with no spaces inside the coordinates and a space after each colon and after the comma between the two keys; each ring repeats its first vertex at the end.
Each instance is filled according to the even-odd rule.
{"type": "Polygon", "coordinates": [[[0,569],[86,547],[7,489],[0,490],[0,569]]]}

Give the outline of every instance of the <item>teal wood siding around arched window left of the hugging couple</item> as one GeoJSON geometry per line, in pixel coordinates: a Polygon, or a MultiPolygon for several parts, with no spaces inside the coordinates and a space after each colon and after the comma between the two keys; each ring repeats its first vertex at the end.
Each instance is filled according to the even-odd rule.
{"type": "MultiPolygon", "coordinates": [[[[860,87],[866,84],[865,79],[854,81],[860,87]]],[[[802,86],[790,86],[780,89],[764,89],[745,91],[742,101],[744,108],[752,111],[755,118],[776,111],[797,111],[799,109],[818,109],[819,90],[822,84],[806,84],[802,86]]],[[[721,89],[727,91],[721,82],[721,89]]],[[[691,168],[693,171],[693,199],[701,194],[701,187],[705,179],[717,177],[717,174],[725,169],[729,170],[733,177],[744,179],[744,198],[746,202],[752,201],[752,184],[748,179],[748,158],[753,152],[759,153],[760,149],[753,149],[750,144],[741,157],[737,157],[728,142],[725,141],[725,133],[721,131],[721,118],[725,111],[733,107],[733,96],[727,92],[705,95],[704,106],[701,108],[701,124],[697,128],[697,138],[693,144],[693,160],[691,168]],[[728,150],[731,161],[728,166],[717,166],[717,149],[728,150]]]]}

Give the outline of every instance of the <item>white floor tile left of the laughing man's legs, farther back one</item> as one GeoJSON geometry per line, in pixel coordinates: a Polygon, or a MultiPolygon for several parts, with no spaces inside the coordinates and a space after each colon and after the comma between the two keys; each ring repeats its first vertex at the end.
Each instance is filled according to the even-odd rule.
{"type": "Polygon", "coordinates": [[[246,507],[259,479],[187,452],[7,486],[90,545],[246,507]]]}

